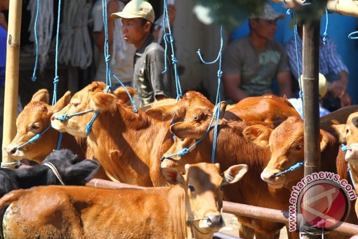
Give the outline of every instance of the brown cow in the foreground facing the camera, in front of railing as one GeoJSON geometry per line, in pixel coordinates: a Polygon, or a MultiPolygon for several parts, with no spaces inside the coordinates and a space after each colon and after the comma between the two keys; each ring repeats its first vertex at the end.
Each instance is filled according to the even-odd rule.
{"type": "Polygon", "coordinates": [[[18,239],[211,239],[224,226],[223,185],[246,171],[241,164],[220,175],[217,164],[201,163],[185,166],[184,176],[175,168],[162,169],[171,187],[16,190],[0,199],[2,233],[18,239]]]}

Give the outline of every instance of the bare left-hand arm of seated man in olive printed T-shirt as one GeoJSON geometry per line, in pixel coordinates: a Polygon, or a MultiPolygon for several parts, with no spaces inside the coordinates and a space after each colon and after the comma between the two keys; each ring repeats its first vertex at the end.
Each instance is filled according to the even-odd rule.
{"type": "Polygon", "coordinates": [[[223,82],[226,96],[234,102],[239,102],[240,100],[249,97],[245,91],[240,89],[241,75],[223,74],[223,82]]]}

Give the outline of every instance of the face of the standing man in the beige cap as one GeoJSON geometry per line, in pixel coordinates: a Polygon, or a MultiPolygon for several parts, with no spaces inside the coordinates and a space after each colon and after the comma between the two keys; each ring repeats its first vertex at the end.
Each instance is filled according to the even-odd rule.
{"type": "Polygon", "coordinates": [[[122,18],[122,23],[123,37],[128,44],[136,44],[140,42],[145,36],[145,33],[150,29],[150,26],[149,29],[146,26],[146,24],[149,23],[143,24],[141,18],[122,18]]]}

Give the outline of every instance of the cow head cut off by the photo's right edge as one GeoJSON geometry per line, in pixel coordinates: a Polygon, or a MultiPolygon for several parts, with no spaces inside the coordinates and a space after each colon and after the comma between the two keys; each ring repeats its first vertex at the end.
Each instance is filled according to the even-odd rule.
{"type": "Polygon", "coordinates": [[[345,153],[345,160],[354,167],[358,166],[358,112],[350,114],[347,124],[333,125],[340,141],[346,142],[350,150],[345,153]]]}

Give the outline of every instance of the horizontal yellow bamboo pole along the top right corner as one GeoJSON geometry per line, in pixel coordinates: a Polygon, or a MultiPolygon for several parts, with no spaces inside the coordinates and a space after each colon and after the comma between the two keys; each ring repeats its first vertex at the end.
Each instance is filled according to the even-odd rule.
{"type": "MultiPolygon", "coordinates": [[[[282,3],[282,0],[271,0],[274,3],[282,3]]],[[[285,7],[294,8],[301,5],[304,0],[285,0],[285,7]]],[[[358,17],[358,1],[357,0],[328,0],[327,9],[330,13],[338,13],[341,15],[358,17]]]]}

